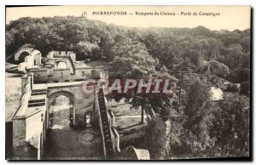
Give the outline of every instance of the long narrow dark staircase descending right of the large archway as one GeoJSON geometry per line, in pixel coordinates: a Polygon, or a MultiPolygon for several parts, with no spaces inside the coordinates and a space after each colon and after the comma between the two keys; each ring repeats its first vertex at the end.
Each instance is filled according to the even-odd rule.
{"type": "Polygon", "coordinates": [[[104,144],[106,148],[106,157],[109,158],[113,156],[114,151],[113,151],[113,141],[111,138],[111,127],[110,123],[108,122],[108,111],[107,107],[105,105],[105,100],[104,100],[104,94],[102,89],[100,89],[99,94],[98,94],[98,100],[99,100],[99,105],[100,105],[100,115],[102,118],[102,129],[103,129],[103,137],[104,137],[104,144]]]}

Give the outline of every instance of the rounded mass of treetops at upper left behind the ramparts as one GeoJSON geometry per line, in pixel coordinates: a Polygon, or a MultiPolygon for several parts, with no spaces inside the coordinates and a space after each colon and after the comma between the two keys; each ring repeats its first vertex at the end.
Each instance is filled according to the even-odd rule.
{"type": "Polygon", "coordinates": [[[6,27],[9,54],[25,43],[32,43],[44,55],[51,50],[72,50],[81,56],[100,58],[109,54],[113,37],[103,22],[84,17],[20,18],[6,27]]]}

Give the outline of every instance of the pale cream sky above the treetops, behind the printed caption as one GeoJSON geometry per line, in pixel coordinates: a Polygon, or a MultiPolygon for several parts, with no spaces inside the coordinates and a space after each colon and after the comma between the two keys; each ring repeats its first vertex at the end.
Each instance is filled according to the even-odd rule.
{"type": "Polygon", "coordinates": [[[134,27],[205,26],[211,30],[234,31],[250,28],[251,20],[250,6],[44,6],[7,8],[6,24],[21,17],[81,16],[84,12],[90,20],[134,27]],[[113,13],[109,15],[99,14],[100,12],[113,13]],[[114,15],[114,12],[126,14],[114,15]],[[202,13],[209,15],[201,15],[202,13]]]}

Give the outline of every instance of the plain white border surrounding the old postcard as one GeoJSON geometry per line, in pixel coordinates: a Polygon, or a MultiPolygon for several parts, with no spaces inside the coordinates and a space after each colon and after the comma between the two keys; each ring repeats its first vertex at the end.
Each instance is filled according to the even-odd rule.
{"type": "MultiPolygon", "coordinates": [[[[252,5],[254,9],[256,8],[256,1],[254,0],[232,0],[232,1],[227,1],[227,0],[215,0],[215,1],[209,1],[209,0],[176,0],[176,1],[169,1],[166,2],[165,0],[91,0],[91,1],[84,1],[84,0],[1,0],[0,3],[0,62],[1,62],[1,71],[5,71],[5,5],[252,5]]],[[[255,11],[254,11],[255,12],[255,11]]],[[[254,21],[253,17],[253,22],[254,21]]],[[[254,30],[254,29],[253,29],[254,30]]],[[[254,35],[253,35],[254,38],[254,35]]],[[[253,44],[253,50],[255,50],[254,44],[253,44]]],[[[255,64],[255,58],[253,58],[253,64],[255,64]]],[[[253,69],[253,68],[252,68],[253,69]]],[[[253,77],[255,77],[255,71],[253,69],[253,77]]],[[[254,81],[253,81],[254,82],[254,81]]],[[[1,116],[0,116],[0,121],[1,121],[1,164],[7,164],[9,162],[5,161],[5,126],[4,126],[4,121],[5,121],[5,74],[2,72],[1,74],[1,85],[0,85],[0,91],[3,91],[4,94],[1,96],[1,103],[0,103],[0,110],[1,110],[1,116]]],[[[255,82],[254,82],[255,84],[255,82]]],[[[254,85],[253,84],[253,85],[254,85]]],[[[255,89],[255,88],[254,88],[255,89]]],[[[254,94],[254,90],[253,90],[254,94]]],[[[255,96],[253,98],[253,102],[256,102],[255,96]]],[[[254,111],[254,110],[252,110],[254,111]]],[[[253,119],[255,118],[256,112],[253,112],[253,119]]],[[[254,125],[253,125],[254,126],[254,125]]],[[[253,133],[255,132],[255,127],[253,127],[253,133]]],[[[254,137],[254,136],[253,136],[254,137]]],[[[255,139],[255,138],[254,138],[255,139]]],[[[253,140],[255,143],[255,140],[253,140]]],[[[255,158],[255,151],[253,151],[253,157],[255,158]]],[[[11,162],[13,163],[22,163],[22,162],[11,162]]],[[[23,162],[23,163],[38,163],[38,162],[23,162]]],[[[42,162],[39,162],[42,163],[42,162]]],[[[45,163],[45,162],[44,162],[45,163]]],[[[47,162],[47,163],[62,163],[62,162],[47,162]]],[[[66,162],[64,162],[66,163],[66,162]]],[[[84,163],[84,162],[67,162],[68,164],[71,163],[84,163]]],[[[86,164],[90,163],[95,163],[95,162],[85,162],[86,164]]],[[[102,162],[101,162],[102,163],[102,162]]],[[[108,163],[113,163],[113,162],[108,162],[108,163]]],[[[114,163],[119,163],[119,162],[114,162],[114,163]]],[[[127,163],[127,162],[125,162],[127,163]]],[[[128,162],[128,163],[134,163],[134,162],[128,162]]],[[[136,162],[136,164],[142,163],[142,162],[136,162]]],[[[154,163],[159,163],[159,162],[154,162],[154,163]]],[[[168,162],[168,163],[174,163],[174,162],[168,162]]],[[[177,163],[177,162],[175,162],[177,163]]],[[[181,164],[185,164],[188,162],[178,162],[181,164]]],[[[190,162],[191,163],[191,162],[190,162]]],[[[198,162],[193,162],[193,163],[198,163],[198,162]]],[[[204,163],[204,162],[203,162],[204,163]]],[[[207,164],[213,164],[216,162],[207,162],[207,164]]],[[[229,163],[234,163],[234,162],[229,162],[229,163]]]]}

